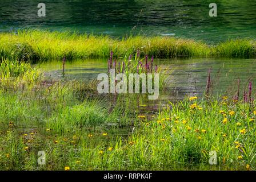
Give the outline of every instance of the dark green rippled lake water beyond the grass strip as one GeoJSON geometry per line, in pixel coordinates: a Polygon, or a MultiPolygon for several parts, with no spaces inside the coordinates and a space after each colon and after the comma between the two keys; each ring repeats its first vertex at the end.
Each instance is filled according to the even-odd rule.
{"type": "Polygon", "coordinates": [[[77,30],[111,36],[178,36],[217,43],[229,38],[256,38],[256,1],[216,0],[218,16],[209,16],[213,1],[178,0],[1,0],[0,31],[19,28],[77,30]],[[37,4],[46,4],[46,17],[37,4]]]}

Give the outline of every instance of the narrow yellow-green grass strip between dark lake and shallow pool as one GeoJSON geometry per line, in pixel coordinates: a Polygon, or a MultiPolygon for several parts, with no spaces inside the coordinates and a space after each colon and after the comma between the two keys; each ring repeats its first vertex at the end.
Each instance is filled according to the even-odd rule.
{"type": "Polygon", "coordinates": [[[87,57],[109,57],[134,55],[137,50],[142,56],[158,58],[178,56],[224,56],[251,57],[256,55],[255,41],[249,39],[228,40],[217,46],[189,39],[163,36],[130,36],[123,39],[70,32],[38,30],[19,31],[17,35],[0,34],[2,58],[19,60],[62,60],[85,59],[87,57]]]}

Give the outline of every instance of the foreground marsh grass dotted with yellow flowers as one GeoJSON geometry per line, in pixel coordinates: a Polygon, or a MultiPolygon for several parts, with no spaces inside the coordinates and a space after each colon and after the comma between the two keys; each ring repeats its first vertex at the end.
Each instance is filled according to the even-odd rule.
{"type": "Polygon", "coordinates": [[[159,113],[128,114],[124,96],[104,102],[91,96],[93,86],[45,80],[27,63],[2,61],[0,75],[1,170],[256,167],[251,93],[249,101],[191,97],[159,113]],[[37,163],[38,151],[45,151],[45,165],[37,163]],[[209,164],[210,151],[217,165],[209,164]]]}

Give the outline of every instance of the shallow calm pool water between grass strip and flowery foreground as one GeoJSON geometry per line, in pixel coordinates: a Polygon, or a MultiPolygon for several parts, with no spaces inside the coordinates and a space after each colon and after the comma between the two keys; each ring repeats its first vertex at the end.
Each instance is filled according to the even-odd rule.
{"type": "MultiPolygon", "coordinates": [[[[237,92],[238,79],[240,92],[247,90],[249,80],[253,81],[256,75],[256,59],[162,59],[155,60],[154,64],[166,69],[168,74],[167,90],[159,94],[157,101],[149,101],[147,97],[138,96],[139,105],[151,105],[153,110],[165,105],[168,101],[182,100],[185,96],[201,97],[205,93],[209,69],[211,69],[211,82],[213,96],[234,96],[237,92]]],[[[62,74],[62,61],[38,64],[37,67],[45,71],[45,75],[52,79],[60,79],[62,74]]],[[[99,73],[107,73],[107,63],[102,60],[76,60],[65,65],[65,77],[69,80],[82,80],[89,82],[97,78],[99,73]]],[[[255,83],[253,82],[253,88],[255,83]]],[[[96,88],[95,88],[96,89],[96,88]]],[[[127,94],[128,95],[128,94],[127,94]]],[[[99,96],[101,97],[101,96],[99,96]]]]}

